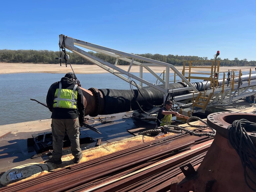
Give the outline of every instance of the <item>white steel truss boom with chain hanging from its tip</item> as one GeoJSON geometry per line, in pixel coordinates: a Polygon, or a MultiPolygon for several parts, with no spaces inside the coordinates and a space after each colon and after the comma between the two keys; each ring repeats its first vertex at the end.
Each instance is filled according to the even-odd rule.
{"type": "MultiPolygon", "coordinates": [[[[125,80],[126,82],[130,83],[132,80],[131,79],[136,79],[139,81],[139,85],[138,87],[141,88],[145,88],[145,87],[152,87],[155,88],[161,92],[163,92],[164,94],[167,94],[169,92],[169,75],[170,75],[170,69],[173,70],[175,72],[176,75],[178,75],[188,86],[189,88],[183,88],[184,90],[193,90],[195,92],[198,92],[198,90],[171,64],[169,63],[165,63],[165,62],[161,62],[161,61],[157,61],[154,59],[149,59],[146,57],[142,57],[139,55],[135,55],[135,54],[131,54],[131,53],[125,53],[125,52],[121,52],[121,51],[117,51],[114,49],[110,49],[107,47],[103,47],[100,45],[96,45],[96,44],[92,44],[92,43],[88,43],[85,41],[81,41],[78,39],[74,39],[72,37],[68,37],[65,36],[63,34],[59,35],[59,40],[60,42],[63,41],[63,36],[65,38],[65,48],[80,55],[81,57],[91,61],[92,63],[96,64],[97,66],[101,67],[102,69],[106,70],[109,73],[112,73],[113,75],[116,75],[117,77],[125,80]],[[108,63],[88,52],[85,52],[84,50],[81,50],[76,46],[80,46],[98,53],[103,53],[105,55],[111,56],[116,58],[115,64],[111,64],[108,63]],[[130,59],[131,58],[131,59],[130,59]],[[126,62],[129,62],[129,68],[127,71],[120,69],[119,67],[117,67],[117,63],[118,60],[123,60],[126,62]],[[139,59],[148,63],[140,63],[138,61],[135,61],[135,59],[139,59]],[[132,67],[132,65],[138,65],[139,67],[139,76],[133,75],[130,73],[130,69],[132,67]],[[165,67],[166,69],[166,79],[165,81],[159,76],[157,75],[150,67],[151,66],[160,66],[160,67],[165,67]],[[152,84],[146,80],[143,79],[143,68],[145,68],[148,72],[150,72],[152,75],[154,75],[162,84],[159,85],[164,85],[164,88],[160,87],[159,85],[155,85],[152,84]],[[126,75],[127,77],[123,76],[126,75]],[[142,86],[144,84],[146,84],[147,86],[142,86]]],[[[134,85],[134,83],[132,82],[132,84],[134,85]]],[[[183,91],[183,89],[177,89],[177,90],[172,90],[172,92],[176,92],[176,91],[183,91]]]]}

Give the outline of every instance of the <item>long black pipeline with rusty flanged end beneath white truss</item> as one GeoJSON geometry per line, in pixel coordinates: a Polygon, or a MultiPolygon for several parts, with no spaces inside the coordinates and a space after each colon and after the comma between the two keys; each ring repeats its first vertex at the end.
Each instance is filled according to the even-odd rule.
{"type": "MultiPolygon", "coordinates": [[[[256,79],[256,74],[243,75],[242,81],[256,79]]],[[[234,82],[238,82],[239,78],[235,78],[234,82]]],[[[219,85],[223,84],[223,79],[218,80],[219,85]]],[[[227,84],[227,80],[224,81],[227,84]]],[[[210,81],[201,81],[192,83],[198,90],[203,91],[211,87],[210,81]]],[[[188,87],[184,82],[170,83],[169,90],[181,89],[188,87]]],[[[156,89],[147,88],[139,90],[116,90],[116,89],[96,89],[88,90],[81,88],[84,95],[85,115],[96,117],[97,115],[109,115],[132,110],[138,110],[140,107],[146,108],[155,105],[159,106],[163,103],[164,94],[156,89]],[[138,104],[139,103],[139,104],[138,104]],[[139,106],[140,105],[140,106],[139,106]],[[150,106],[151,105],[151,106],[150,106]]],[[[173,93],[174,96],[188,94],[188,91],[180,91],[173,93]]],[[[149,108],[149,109],[150,109],[149,108]]]]}

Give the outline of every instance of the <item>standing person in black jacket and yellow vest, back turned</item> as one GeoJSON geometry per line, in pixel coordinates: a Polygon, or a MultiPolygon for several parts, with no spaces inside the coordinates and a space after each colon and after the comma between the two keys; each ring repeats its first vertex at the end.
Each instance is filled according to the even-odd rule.
{"type": "Polygon", "coordinates": [[[53,153],[49,161],[56,164],[62,163],[65,132],[71,141],[74,163],[78,163],[83,157],[79,143],[79,121],[80,124],[84,122],[84,97],[75,82],[75,74],[67,73],[60,81],[51,85],[46,97],[47,106],[52,112],[53,153]]]}

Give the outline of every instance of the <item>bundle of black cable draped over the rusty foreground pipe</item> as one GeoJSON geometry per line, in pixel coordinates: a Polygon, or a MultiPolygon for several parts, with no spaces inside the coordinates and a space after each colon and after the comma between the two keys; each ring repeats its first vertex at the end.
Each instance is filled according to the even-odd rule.
{"type": "Polygon", "coordinates": [[[235,120],[231,125],[228,126],[228,140],[232,147],[236,150],[237,154],[240,157],[242,166],[244,168],[244,178],[246,185],[253,191],[256,191],[255,188],[252,188],[247,181],[247,178],[256,186],[256,182],[252,180],[251,176],[248,174],[246,168],[251,170],[255,175],[256,166],[252,162],[256,162],[256,147],[254,146],[252,140],[247,134],[246,130],[256,130],[256,123],[250,122],[246,119],[235,120]]]}

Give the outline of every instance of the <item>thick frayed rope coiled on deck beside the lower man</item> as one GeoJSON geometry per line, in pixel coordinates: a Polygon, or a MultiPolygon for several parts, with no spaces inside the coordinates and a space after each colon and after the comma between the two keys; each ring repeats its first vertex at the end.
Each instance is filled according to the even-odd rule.
{"type": "MultiPolygon", "coordinates": [[[[209,127],[207,122],[204,121],[203,119],[199,118],[199,117],[189,117],[187,119],[187,124],[189,126],[191,126],[191,127],[197,127],[197,128],[209,127]],[[200,120],[205,125],[194,125],[194,124],[191,124],[189,121],[191,121],[192,119],[200,120]]],[[[146,134],[157,135],[160,132],[164,132],[164,131],[172,132],[172,133],[182,133],[182,131],[185,131],[185,132],[188,132],[191,135],[195,135],[195,136],[211,136],[211,137],[215,137],[216,130],[212,129],[211,127],[210,127],[210,129],[213,131],[213,133],[196,133],[194,131],[191,131],[189,129],[185,129],[184,127],[180,127],[180,126],[177,126],[177,125],[164,125],[164,126],[158,127],[157,129],[151,129],[151,130],[143,131],[139,135],[146,135],[146,134]]]]}

